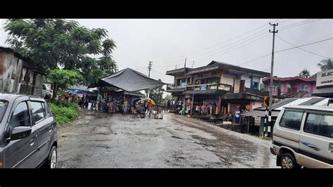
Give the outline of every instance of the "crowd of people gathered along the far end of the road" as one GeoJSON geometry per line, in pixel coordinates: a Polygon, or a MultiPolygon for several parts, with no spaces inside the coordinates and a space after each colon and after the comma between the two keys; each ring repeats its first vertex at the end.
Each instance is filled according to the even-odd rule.
{"type": "MultiPolygon", "coordinates": [[[[77,103],[82,109],[88,109],[90,102],[88,96],[83,96],[81,99],[77,99],[77,103]]],[[[167,99],[165,108],[176,110],[180,115],[194,115],[198,117],[200,115],[216,114],[217,105],[215,101],[211,101],[208,103],[201,101],[199,103],[193,103],[192,105],[190,99],[188,99],[185,104],[182,101],[178,101],[177,99],[167,99]],[[192,106],[193,112],[191,111],[192,106]]],[[[145,117],[145,115],[149,115],[149,117],[151,117],[152,110],[155,110],[157,111],[157,113],[159,113],[160,108],[157,105],[153,105],[150,101],[128,101],[126,99],[124,100],[124,98],[121,97],[113,98],[111,100],[105,98],[104,100],[102,100],[100,96],[97,101],[93,101],[91,103],[91,110],[107,112],[108,115],[111,117],[115,115],[115,112],[131,114],[131,117],[145,117]]],[[[234,112],[235,116],[232,112],[228,111],[223,116],[223,120],[240,124],[240,116],[242,112],[247,111],[247,108],[241,109],[240,106],[237,106],[234,112]]]]}

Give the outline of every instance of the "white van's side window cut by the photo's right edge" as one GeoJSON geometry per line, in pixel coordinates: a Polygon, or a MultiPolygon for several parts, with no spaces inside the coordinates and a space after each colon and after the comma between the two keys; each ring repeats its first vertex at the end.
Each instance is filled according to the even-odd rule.
{"type": "Polygon", "coordinates": [[[333,138],[333,115],[308,114],[303,130],[333,138]]]}

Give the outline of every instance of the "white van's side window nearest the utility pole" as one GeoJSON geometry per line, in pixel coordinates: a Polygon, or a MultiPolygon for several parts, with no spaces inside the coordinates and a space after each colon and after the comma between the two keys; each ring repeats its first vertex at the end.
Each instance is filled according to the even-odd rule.
{"type": "Polygon", "coordinates": [[[301,129],[303,112],[285,111],[280,120],[280,127],[299,130],[301,129]]]}

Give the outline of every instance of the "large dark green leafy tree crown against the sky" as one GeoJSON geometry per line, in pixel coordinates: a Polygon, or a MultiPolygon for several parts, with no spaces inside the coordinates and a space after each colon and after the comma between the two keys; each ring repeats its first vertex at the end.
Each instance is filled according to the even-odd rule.
{"type": "Polygon", "coordinates": [[[46,73],[60,68],[78,70],[83,84],[89,86],[117,72],[111,56],[115,41],[105,29],[88,29],[65,19],[11,19],[4,29],[9,34],[6,43],[32,58],[46,73]]]}

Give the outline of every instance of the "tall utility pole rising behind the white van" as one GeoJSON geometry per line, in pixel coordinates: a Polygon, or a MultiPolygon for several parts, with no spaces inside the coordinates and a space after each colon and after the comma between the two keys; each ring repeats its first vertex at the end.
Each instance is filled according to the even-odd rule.
{"type": "MultiPolygon", "coordinates": [[[[269,90],[269,111],[268,111],[268,124],[270,124],[270,136],[273,136],[271,133],[273,131],[273,124],[272,124],[272,105],[273,105],[273,96],[272,96],[272,91],[273,91],[273,67],[274,67],[274,43],[275,43],[275,33],[278,33],[278,30],[275,31],[275,27],[278,26],[279,24],[270,24],[273,25],[273,48],[272,48],[272,63],[270,65],[270,90],[269,90]]],[[[268,134],[268,127],[266,127],[266,134],[268,134]]]]}

